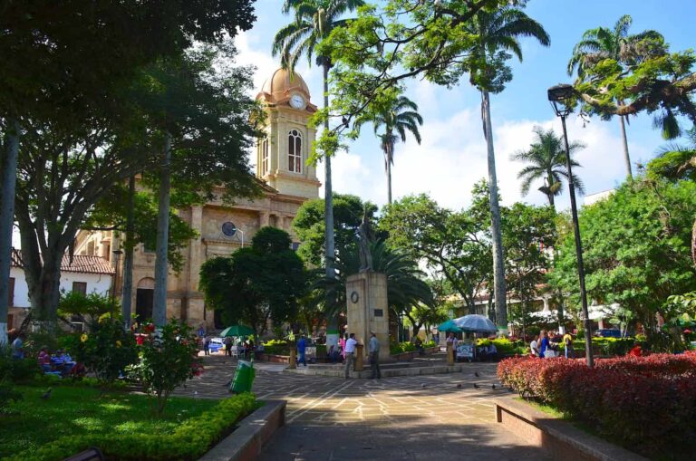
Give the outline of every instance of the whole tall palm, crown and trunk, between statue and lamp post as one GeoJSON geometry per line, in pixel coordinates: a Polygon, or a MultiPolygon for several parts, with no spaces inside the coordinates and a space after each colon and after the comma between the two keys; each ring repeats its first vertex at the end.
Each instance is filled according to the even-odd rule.
{"type": "Polygon", "coordinates": [[[502,236],[500,233],[500,206],[498,204],[498,179],[496,178],[496,155],[493,149],[493,128],[490,119],[491,91],[499,92],[510,80],[511,73],[505,61],[509,53],[522,61],[519,37],[532,37],[547,46],[551,43],[544,27],[522,10],[512,6],[494,11],[482,10],[469,23],[469,32],[478,36],[473,59],[475,67],[470,72],[470,81],[481,92],[481,117],[483,133],[488,147],[488,189],[490,204],[491,234],[493,240],[493,283],[498,328],[507,331],[507,306],[505,286],[505,262],[503,259],[502,236]]]}

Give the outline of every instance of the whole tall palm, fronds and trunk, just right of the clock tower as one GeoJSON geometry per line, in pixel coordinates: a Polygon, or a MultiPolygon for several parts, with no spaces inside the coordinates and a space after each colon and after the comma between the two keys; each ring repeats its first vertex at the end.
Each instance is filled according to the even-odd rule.
{"type": "MultiPolygon", "coordinates": [[[[273,41],[273,55],[280,54],[285,68],[295,69],[295,64],[302,55],[307,56],[312,65],[312,56],[319,43],[328,37],[333,29],[346,24],[340,19],[345,13],[363,5],[362,0],[285,0],[283,13],[293,11],[295,20],[281,28],[273,41]]],[[[331,60],[328,56],[317,56],[316,64],[324,72],[324,108],[329,106],[329,70],[331,60]]],[[[324,130],[329,130],[329,121],[324,121],[324,130]]],[[[324,158],[324,216],[326,219],[324,234],[324,270],[326,278],[335,279],[335,243],[333,239],[333,185],[331,180],[331,156],[324,158]]],[[[333,297],[329,293],[329,297],[333,297]]],[[[327,298],[327,304],[331,300],[327,298]]],[[[329,319],[327,332],[337,338],[338,319],[329,319]]]]}

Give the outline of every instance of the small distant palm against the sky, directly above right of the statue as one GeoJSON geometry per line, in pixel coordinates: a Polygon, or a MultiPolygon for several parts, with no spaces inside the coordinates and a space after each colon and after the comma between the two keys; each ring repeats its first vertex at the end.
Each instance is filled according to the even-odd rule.
{"type": "Polygon", "coordinates": [[[384,110],[378,114],[374,120],[374,134],[381,140],[382,151],[384,152],[384,170],[387,173],[387,200],[391,205],[391,165],[394,164],[394,144],[399,139],[406,142],[406,132],[411,131],[413,138],[420,144],[420,131],[418,126],[423,124],[423,118],[418,113],[418,104],[411,101],[406,96],[397,98],[390,110],[384,110]],[[380,128],[384,127],[384,132],[378,134],[380,128]],[[396,134],[394,133],[396,131],[396,134]]]}

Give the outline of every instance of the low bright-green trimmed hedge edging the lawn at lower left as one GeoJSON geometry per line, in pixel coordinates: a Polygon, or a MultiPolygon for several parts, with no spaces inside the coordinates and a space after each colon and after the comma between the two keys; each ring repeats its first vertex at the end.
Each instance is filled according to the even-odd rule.
{"type": "Polygon", "coordinates": [[[64,437],[38,450],[27,450],[2,461],[54,461],[73,456],[89,447],[99,447],[107,459],[121,461],[188,461],[203,456],[235,422],[256,408],[253,394],[220,400],[198,417],[183,421],[171,434],[102,434],[64,437]]]}

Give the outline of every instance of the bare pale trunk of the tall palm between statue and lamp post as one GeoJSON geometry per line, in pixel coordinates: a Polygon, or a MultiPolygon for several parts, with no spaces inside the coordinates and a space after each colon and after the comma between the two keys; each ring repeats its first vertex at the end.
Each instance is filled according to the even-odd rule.
{"type": "Polygon", "coordinates": [[[500,206],[498,204],[498,178],[496,178],[496,155],[493,150],[493,129],[490,124],[490,99],[488,91],[481,91],[481,109],[484,136],[488,147],[488,188],[490,191],[490,233],[493,240],[493,284],[496,303],[498,331],[507,334],[507,304],[505,286],[505,262],[503,259],[502,235],[500,230],[500,206]]]}

